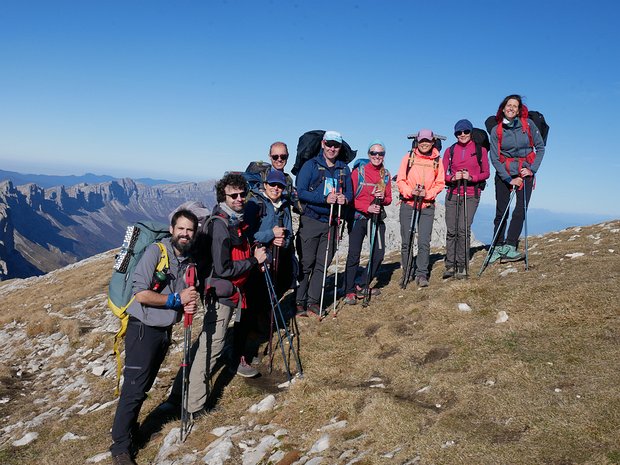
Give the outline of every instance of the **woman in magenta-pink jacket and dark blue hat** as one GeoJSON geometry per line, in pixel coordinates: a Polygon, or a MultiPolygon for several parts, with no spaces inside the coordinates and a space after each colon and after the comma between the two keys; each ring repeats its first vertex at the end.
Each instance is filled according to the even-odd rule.
{"type": "Polygon", "coordinates": [[[471,138],[473,129],[469,120],[457,121],[454,125],[457,142],[443,154],[448,186],[445,202],[447,232],[444,279],[467,277],[471,224],[478,209],[480,193],[489,178],[487,149],[474,143],[471,138]]]}

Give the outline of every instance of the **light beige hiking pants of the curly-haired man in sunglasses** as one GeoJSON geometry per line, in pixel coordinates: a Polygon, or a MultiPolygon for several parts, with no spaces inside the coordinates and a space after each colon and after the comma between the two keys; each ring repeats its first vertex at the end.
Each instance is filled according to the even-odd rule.
{"type": "Polygon", "coordinates": [[[195,355],[189,372],[187,402],[190,413],[203,408],[209,397],[211,374],[224,352],[228,326],[234,310],[234,307],[218,301],[206,304],[202,332],[192,347],[195,355]]]}

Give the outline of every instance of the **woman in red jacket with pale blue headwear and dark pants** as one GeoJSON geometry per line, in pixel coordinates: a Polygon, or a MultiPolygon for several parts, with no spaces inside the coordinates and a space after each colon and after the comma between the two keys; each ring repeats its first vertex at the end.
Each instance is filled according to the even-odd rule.
{"type": "MultiPolygon", "coordinates": [[[[345,303],[355,305],[369,292],[369,285],[376,276],[385,255],[385,210],[392,203],[392,180],[383,165],[385,144],[373,140],[368,146],[368,159],[353,165],[353,223],[349,227],[349,254],[344,277],[345,303]],[[355,284],[364,238],[368,235],[372,247],[369,264],[362,274],[362,286],[355,284]],[[368,288],[367,288],[368,286],[368,288]]],[[[373,295],[378,289],[372,289],[373,295]]]]}

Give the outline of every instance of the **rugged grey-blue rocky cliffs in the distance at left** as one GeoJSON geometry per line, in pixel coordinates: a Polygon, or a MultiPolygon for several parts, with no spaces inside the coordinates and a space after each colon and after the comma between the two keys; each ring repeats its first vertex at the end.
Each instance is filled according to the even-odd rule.
{"type": "Polygon", "coordinates": [[[131,179],[42,189],[0,183],[0,280],[39,275],[118,247],[138,220],[168,222],[187,200],[215,202],[213,182],[146,186],[131,179]]]}

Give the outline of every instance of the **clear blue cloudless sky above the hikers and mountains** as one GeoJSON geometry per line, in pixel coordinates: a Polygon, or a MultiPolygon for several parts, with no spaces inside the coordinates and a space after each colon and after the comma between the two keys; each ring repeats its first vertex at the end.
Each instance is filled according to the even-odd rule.
{"type": "Polygon", "coordinates": [[[202,180],[334,129],[395,172],[520,93],[551,126],[533,206],[618,216],[617,5],[4,1],[0,168],[202,180]]]}

